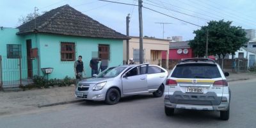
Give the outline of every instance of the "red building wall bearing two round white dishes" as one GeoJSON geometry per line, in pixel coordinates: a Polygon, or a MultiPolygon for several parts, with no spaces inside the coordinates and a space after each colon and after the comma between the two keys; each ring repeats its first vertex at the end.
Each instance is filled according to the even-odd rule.
{"type": "Polygon", "coordinates": [[[169,60],[181,60],[182,58],[192,58],[193,57],[192,49],[191,48],[186,48],[186,49],[188,49],[188,54],[184,54],[183,52],[181,54],[178,54],[177,53],[178,49],[170,49],[169,60]]]}

